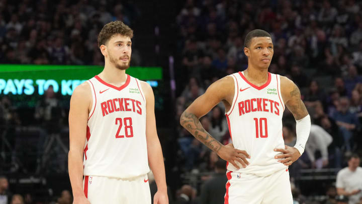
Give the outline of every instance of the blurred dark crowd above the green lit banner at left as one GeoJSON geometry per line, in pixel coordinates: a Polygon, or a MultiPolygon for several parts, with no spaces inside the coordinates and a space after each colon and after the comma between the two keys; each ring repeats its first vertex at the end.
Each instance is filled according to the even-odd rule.
{"type": "MultiPolygon", "coordinates": [[[[0,63],[103,65],[97,44],[102,27],[115,20],[132,26],[139,14],[123,2],[2,0],[0,63]]],[[[139,57],[132,64],[139,65],[139,57]]]]}

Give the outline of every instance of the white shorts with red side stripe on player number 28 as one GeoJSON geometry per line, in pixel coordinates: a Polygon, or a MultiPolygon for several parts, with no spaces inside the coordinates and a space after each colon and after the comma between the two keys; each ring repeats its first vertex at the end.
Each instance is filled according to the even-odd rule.
{"type": "Polygon", "coordinates": [[[83,189],[91,204],[151,204],[147,174],[126,179],[84,176],[83,189]]]}

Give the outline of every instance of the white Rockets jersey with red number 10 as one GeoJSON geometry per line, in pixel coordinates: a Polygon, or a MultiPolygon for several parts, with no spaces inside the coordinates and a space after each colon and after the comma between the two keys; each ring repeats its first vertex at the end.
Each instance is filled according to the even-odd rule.
{"type": "Polygon", "coordinates": [[[280,76],[268,73],[267,82],[258,87],[247,81],[243,72],[230,75],[235,82],[235,94],[230,110],[225,114],[235,149],[245,150],[250,159],[246,168],[229,171],[267,176],[287,167],[274,157],[275,148],[285,148],[282,117],[284,102],[280,92],[280,76]]]}

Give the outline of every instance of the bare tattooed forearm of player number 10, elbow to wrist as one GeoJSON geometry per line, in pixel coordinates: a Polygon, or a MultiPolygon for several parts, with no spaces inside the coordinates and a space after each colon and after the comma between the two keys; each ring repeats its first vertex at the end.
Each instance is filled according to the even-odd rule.
{"type": "Polygon", "coordinates": [[[222,144],[204,129],[195,114],[185,111],[181,115],[180,124],[211,150],[218,152],[221,149],[222,144]]]}

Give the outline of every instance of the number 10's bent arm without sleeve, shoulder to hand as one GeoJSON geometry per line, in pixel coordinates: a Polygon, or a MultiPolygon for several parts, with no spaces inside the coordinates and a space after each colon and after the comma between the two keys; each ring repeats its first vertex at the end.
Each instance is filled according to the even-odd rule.
{"type": "Polygon", "coordinates": [[[214,82],[183,112],[180,124],[196,139],[215,151],[220,158],[230,162],[236,168],[238,165],[235,161],[237,161],[245,168],[249,164],[246,160],[249,155],[245,151],[234,149],[232,145],[222,145],[204,129],[199,120],[221,101],[231,106],[234,93],[234,80],[231,76],[214,82]]]}

